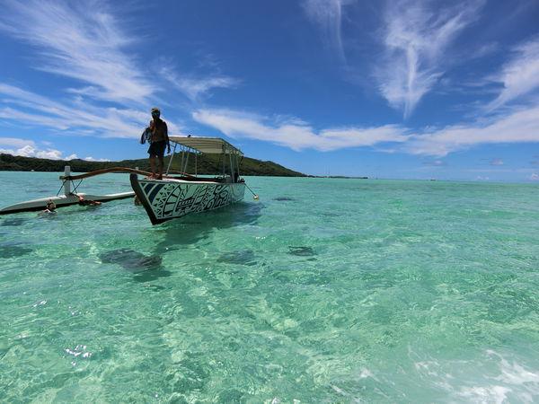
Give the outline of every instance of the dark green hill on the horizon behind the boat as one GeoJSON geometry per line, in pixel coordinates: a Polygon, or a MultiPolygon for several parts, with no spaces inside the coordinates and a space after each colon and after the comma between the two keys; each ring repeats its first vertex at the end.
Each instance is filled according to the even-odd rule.
{"type": "MultiPolygon", "coordinates": [[[[218,154],[201,154],[197,156],[198,174],[216,174],[221,171],[222,161],[218,154]]],[[[170,157],[166,157],[164,166],[168,165],[170,157]]],[[[180,171],[181,157],[177,154],[172,161],[172,171],[180,171]]],[[[195,155],[190,154],[187,172],[195,171],[195,155]]],[[[102,170],[110,167],[138,167],[139,170],[149,171],[148,159],[121,160],[119,162],[88,162],[85,160],[49,160],[34,157],[22,157],[11,154],[0,154],[0,171],[64,171],[64,166],[71,166],[71,171],[87,172],[102,170]]],[[[305,174],[292,171],[276,162],[262,162],[261,160],[243,157],[240,164],[242,175],[267,175],[279,177],[303,177],[305,174]]]]}

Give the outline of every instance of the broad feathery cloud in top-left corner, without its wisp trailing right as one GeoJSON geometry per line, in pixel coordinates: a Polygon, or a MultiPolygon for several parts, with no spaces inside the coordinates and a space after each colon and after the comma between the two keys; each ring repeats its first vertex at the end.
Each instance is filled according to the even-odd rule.
{"type": "Polygon", "coordinates": [[[146,101],[156,88],[137,69],[120,23],[99,1],[7,1],[0,28],[37,47],[36,68],[89,84],[76,89],[106,101],[146,101]]]}

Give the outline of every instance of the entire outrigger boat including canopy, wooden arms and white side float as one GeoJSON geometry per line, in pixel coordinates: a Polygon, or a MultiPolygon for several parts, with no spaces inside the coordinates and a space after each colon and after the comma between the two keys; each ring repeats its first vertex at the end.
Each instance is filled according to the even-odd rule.
{"type": "MultiPolygon", "coordinates": [[[[137,200],[145,207],[146,214],[152,224],[161,224],[167,220],[227,206],[243,199],[247,185],[239,174],[239,166],[243,158],[240,149],[219,137],[170,136],[170,141],[174,148],[162,180],[151,178],[150,172],[127,167],[114,167],[71,175],[70,167],[66,166],[64,175],[60,176],[60,180],[63,181],[60,191],[63,189],[64,195],[34,199],[7,206],[0,209],[0,215],[40,211],[45,209],[49,200],[52,200],[57,207],[62,207],[79,204],[79,197],[83,197],[85,200],[108,202],[136,196],[137,200]],[[180,175],[170,176],[172,158],[178,146],[180,146],[179,152],[181,152],[180,175]],[[199,154],[221,154],[222,172],[214,178],[198,176],[197,156],[199,154]],[[194,174],[186,172],[190,155],[194,155],[195,158],[194,174]],[[74,187],[73,181],[82,181],[110,172],[129,173],[133,192],[108,195],[76,192],[80,182],[74,187]],[[138,175],[143,175],[146,178],[139,179],[138,175]]],[[[255,199],[258,199],[257,195],[254,193],[253,195],[255,199]]]]}

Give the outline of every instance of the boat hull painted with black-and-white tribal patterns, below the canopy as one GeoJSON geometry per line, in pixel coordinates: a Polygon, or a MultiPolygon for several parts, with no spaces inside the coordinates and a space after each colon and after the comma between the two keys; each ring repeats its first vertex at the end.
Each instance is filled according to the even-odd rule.
{"type": "Polygon", "coordinates": [[[243,199],[245,184],[183,180],[139,180],[130,175],[131,187],[152,224],[213,210],[243,199]]]}

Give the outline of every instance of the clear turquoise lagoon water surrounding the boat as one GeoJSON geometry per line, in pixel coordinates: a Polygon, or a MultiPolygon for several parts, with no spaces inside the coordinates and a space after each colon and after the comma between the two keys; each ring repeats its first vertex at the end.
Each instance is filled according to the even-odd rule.
{"type": "MultiPolygon", "coordinates": [[[[57,175],[0,172],[0,205],[57,175]]],[[[539,400],[539,187],[248,184],[160,226],[130,200],[0,217],[0,401],[539,400]]]]}

